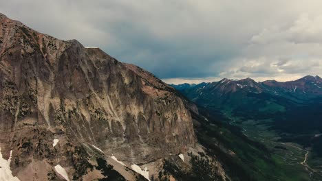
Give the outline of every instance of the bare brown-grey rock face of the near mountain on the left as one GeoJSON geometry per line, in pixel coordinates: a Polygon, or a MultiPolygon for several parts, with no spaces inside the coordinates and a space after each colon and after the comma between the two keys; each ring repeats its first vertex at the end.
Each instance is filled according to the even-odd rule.
{"type": "Polygon", "coordinates": [[[96,147],[140,164],[196,142],[182,99],[151,73],[3,14],[0,101],[1,153],[8,159],[12,150],[11,169],[21,180],[40,170],[40,180],[51,176],[56,165],[81,174],[84,152],[96,147]]]}

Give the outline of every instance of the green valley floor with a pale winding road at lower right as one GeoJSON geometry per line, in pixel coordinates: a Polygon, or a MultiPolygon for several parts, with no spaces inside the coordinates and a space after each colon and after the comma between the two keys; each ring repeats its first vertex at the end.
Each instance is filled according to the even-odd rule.
{"type": "MultiPolygon", "coordinates": [[[[264,120],[247,120],[241,121],[238,117],[231,117],[232,125],[242,128],[244,135],[253,141],[257,141],[266,145],[272,154],[272,159],[276,164],[275,174],[277,180],[322,180],[322,160],[310,157],[310,150],[303,149],[301,145],[296,143],[282,143],[279,140],[279,134],[274,130],[270,130],[270,119],[264,120]],[[308,158],[305,159],[305,154],[308,158]]],[[[266,165],[259,160],[256,165],[261,165],[261,169],[270,171],[271,168],[263,167],[266,165]]],[[[263,170],[263,171],[264,171],[263,170]]]]}

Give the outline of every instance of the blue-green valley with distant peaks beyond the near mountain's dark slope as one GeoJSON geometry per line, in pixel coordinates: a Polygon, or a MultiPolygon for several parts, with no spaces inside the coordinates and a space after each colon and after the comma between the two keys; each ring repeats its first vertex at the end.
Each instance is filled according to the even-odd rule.
{"type": "MultiPolygon", "coordinates": [[[[273,173],[276,180],[322,180],[322,78],[318,75],[290,82],[246,78],[172,86],[263,145],[277,169],[254,160],[259,173],[273,173]]],[[[237,155],[247,154],[233,147],[237,155]]]]}

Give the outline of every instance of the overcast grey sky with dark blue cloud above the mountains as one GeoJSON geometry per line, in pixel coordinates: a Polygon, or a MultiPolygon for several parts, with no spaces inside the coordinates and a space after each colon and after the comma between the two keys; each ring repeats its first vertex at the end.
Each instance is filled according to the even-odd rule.
{"type": "Polygon", "coordinates": [[[11,19],[176,84],[322,75],[321,7],[321,0],[0,0],[11,19]]]}

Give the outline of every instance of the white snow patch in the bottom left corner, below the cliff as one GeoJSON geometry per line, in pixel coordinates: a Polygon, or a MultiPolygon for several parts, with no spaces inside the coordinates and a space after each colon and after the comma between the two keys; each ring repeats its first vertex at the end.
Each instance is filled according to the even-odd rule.
{"type": "Polygon", "coordinates": [[[10,169],[12,150],[10,151],[10,157],[8,160],[2,158],[1,147],[0,147],[0,180],[1,181],[19,181],[19,178],[12,176],[10,169]]]}

